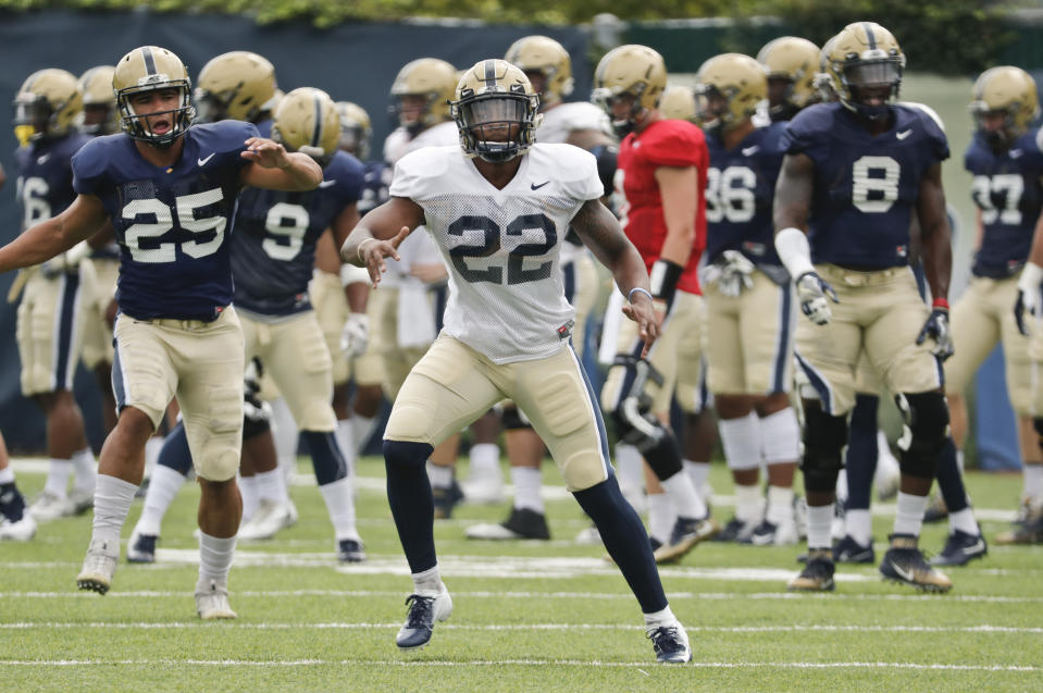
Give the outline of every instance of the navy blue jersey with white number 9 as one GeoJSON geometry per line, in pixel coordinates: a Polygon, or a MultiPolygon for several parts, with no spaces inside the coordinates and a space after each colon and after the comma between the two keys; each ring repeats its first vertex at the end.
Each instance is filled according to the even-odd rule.
{"type": "Polygon", "coordinates": [[[283,193],[246,188],[239,196],[232,239],[235,305],[263,315],[311,307],[308,282],[315,242],[362,193],[363,166],[337,151],[314,190],[283,193]]]}

